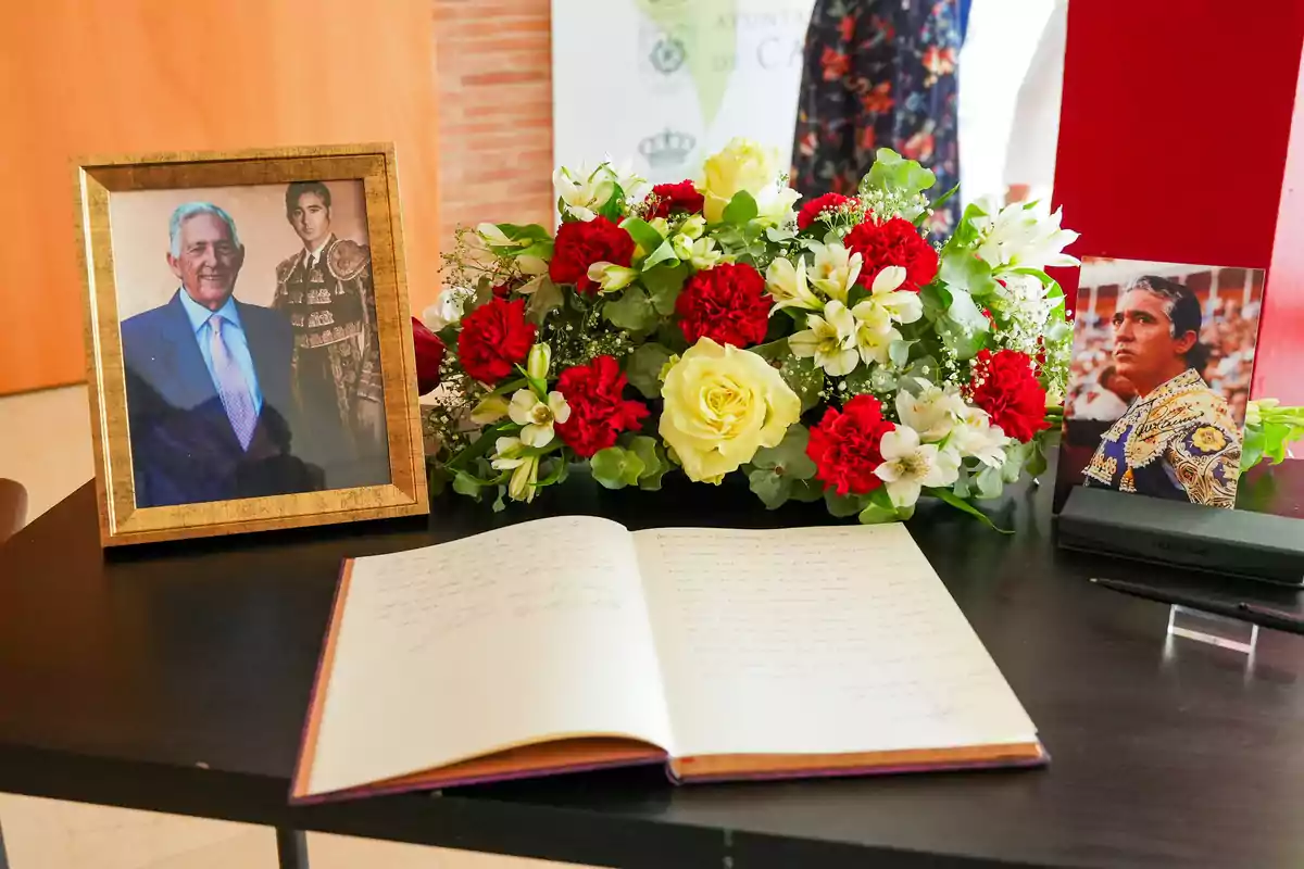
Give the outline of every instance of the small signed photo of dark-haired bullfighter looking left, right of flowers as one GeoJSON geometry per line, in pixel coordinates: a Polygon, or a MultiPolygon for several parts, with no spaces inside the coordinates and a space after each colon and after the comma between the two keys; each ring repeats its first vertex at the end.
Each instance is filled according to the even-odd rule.
{"type": "Polygon", "coordinates": [[[1074,485],[1232,508],[1257,268],[1082,262],[1059,464],[1074,485]]]}

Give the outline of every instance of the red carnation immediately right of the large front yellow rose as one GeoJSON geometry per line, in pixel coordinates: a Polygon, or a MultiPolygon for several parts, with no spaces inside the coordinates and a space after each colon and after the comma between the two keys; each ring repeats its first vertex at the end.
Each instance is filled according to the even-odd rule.
{"type": "Polygon", "coordinates": [[[829,408],[811,429],[806,455],[815,463],[815,478],[838,495],[867,495],[883,481],[874,469],[883,464],[879,443],[896,426],[883,418],[883,405],[872,395],[858,395],[829,408]]]}

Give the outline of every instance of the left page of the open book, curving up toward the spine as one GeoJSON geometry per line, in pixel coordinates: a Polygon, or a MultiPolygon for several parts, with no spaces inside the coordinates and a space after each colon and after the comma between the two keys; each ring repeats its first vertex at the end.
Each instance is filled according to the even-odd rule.
{"type": "Polygon", "coordinates": [[[566,516],[353,563],[308,790],[669,724],[629,532],[566,516]]]}

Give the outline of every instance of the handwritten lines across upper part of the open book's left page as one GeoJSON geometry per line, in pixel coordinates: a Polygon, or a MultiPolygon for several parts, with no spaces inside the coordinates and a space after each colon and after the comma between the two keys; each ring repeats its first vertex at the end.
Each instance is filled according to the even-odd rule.
{"type": "Polygon", "coordinates": [[[625,529],[608,537],[592,520],[541,525],[503,529],[498,541],[481,535],[360,559],[366,569],[355,571],[352,594],[365,582],[377,620],[413,646],[488,619],[626,608],[629,591],[613,581],[630,568],[625,529]]]}

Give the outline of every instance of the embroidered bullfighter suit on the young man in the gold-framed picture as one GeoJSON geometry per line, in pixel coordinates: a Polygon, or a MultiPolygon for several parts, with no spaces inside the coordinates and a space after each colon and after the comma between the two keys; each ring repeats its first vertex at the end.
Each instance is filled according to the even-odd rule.
{"type": "Polygon", "coordinates": [[[330,236],[295,253],[276,266],[273,307],[293,328],[305,459],[326,468],[330,487],[389,482],[387,463],[374,460],[385,455],[385,422],[370,250],[330,236]]]}

